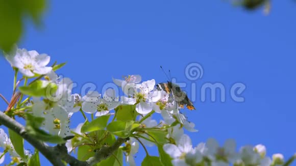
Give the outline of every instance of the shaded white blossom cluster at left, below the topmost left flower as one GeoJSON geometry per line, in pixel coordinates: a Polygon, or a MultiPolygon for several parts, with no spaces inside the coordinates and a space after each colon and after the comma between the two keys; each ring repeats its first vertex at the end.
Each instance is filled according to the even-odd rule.
{"type": "Polygon", "coordinates": [[[49,133],[62,137],[69,136],[71,135],[69,119],[81,107],[76,104],[76,99],[79,95],[71,94],[72,81],[69,78],[60,80],[56,78],[56,75],[51,77],[48,74],[47,79],[55,81],[58,89],[55,94],[48,95],[48,98],[33,98],[32,114],[45,119],[41,127],[49,133]]]}

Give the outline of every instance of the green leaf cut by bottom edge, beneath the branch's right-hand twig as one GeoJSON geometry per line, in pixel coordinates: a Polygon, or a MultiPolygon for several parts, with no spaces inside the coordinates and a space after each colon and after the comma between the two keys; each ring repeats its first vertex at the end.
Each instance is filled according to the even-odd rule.
{"type": "Polygon", "coordinates": [[[122,150],[118,149],[113,153],[113,155],[97,163],[96,166],[105,166],[105,165],[121,166],[123,165],[123,159],[124,159],[123,152],[122,150]],[[119,160],[120,163],[118,163],[118,160],[114,156],[116,156],[116,158],[119,160]]]}

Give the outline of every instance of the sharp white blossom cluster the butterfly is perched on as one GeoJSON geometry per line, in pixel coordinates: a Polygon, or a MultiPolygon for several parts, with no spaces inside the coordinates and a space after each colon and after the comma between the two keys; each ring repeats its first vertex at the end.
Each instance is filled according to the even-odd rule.
{"type": "Polygon", "coordinates": [[[168,125],[177,120],[188,131],[197,131],[194,129],[195,124],[181,114],[177,101],[165,91],[155,88],[155,79],[141,82],[140,75],[129,75],[123,80],[113,78],[113,81],[125,95],[118,97],[113,89],[107,89],[103,97],[97,91],[89,91],[82,97],[82,110],[85,113],[103,116],[118,105],[136,105],[135,110],[140,115],[154,111],[161,114],[168,125]]]}

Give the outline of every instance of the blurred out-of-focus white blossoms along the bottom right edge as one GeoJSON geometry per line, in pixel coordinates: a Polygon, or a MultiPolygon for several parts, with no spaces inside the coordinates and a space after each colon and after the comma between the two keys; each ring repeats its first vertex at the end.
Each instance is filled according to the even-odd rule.
{"type": "Polygon", "coordinates": [[[282,154],[274,154],[273,158],[266,156],[264,145],[244,146],[236,151],[234,140],[227,140],[220,146],[215,139],[208,139],[192,147],[191,139],[183,134],[174,143],[165,144],[164,151],[172,158],[173,165],[282,165],[282,154]]]}

